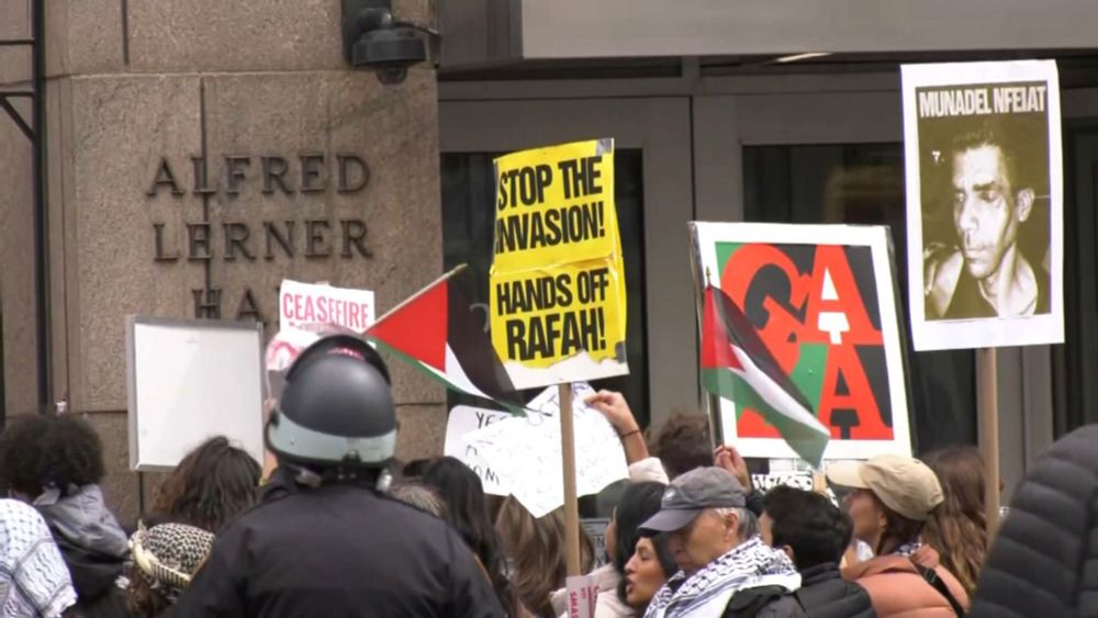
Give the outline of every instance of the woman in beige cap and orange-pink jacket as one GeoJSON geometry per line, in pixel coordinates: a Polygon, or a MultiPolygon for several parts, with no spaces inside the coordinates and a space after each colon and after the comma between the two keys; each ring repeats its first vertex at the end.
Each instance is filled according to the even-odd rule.
{"type": "Polygon", "coordinates": [[[964,587],[939,563],[938,552],[922,544],[922,528],[942,503],[942,487],[927,464],[882,454],[832,463],[827,476],[853,490],[843,502],[854,538],[876,555],[848,565],[842,575],[870,593],[877,616],[934,618],[967,611],[964,587]]]}

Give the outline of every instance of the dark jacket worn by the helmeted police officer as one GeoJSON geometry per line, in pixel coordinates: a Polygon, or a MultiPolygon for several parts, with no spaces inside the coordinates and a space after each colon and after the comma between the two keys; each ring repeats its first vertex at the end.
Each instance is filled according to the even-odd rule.
{"type": "Polygon", "coordinates": [[[488,576],[446,523],[351,485],[276,475],[214,542],[173,616],[495,617],[488,576]]]}

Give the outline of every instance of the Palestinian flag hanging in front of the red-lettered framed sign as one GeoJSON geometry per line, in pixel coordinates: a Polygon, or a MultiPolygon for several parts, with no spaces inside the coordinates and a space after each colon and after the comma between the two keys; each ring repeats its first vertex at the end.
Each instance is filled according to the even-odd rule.
{"type": "Polygon", "coordinates": [[[830,432],[747,315],[713,285],[705,286],[702,312],[702,385],[761,414],[798,456],[819,467],[830,432]]]}

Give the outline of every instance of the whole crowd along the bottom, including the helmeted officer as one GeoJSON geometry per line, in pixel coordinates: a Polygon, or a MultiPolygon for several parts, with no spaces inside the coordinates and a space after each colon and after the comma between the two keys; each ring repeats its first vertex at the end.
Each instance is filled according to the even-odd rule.
{"type": "MultiPolygon", "coordinates": [[[[840,506],[822,492],[754,490],[735,448],[712,449],[701,415],[646,436],[620,394],[587,403],[629,464],[628,482],[600,501],[613,503],[606,555],[581,543],[597,618],[1053,618],[1098,607],[1096,428],[1033,468],[988,552],[989,480],[971,447],[831,463],[840,506]]],[[[373,348],[322,339],[268,419],[268,477],[211,438],[130,528],[104,503],[102,448],[86,422],[15,417],[0,435],[0,614],[567,615],[563,510],[534,517],[488,496],[457,459],[401,469],[396,429],[373,348]]]]}

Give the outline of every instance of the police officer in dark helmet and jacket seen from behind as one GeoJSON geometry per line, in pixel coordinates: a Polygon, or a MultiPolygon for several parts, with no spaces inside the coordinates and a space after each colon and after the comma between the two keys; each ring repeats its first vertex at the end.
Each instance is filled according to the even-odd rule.
{"type": "Polygon", "coordinates": [[[265,428],[279,469],[226,528],[177,616],[504,616],[441,520],[381,495],[396,446],[389,372],[361,339],[294,361],[265,428]]]}

